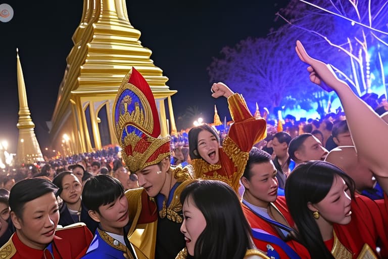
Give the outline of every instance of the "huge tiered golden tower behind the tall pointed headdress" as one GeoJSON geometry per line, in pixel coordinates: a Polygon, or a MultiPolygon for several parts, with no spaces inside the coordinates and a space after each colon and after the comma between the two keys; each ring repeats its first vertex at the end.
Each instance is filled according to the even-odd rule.
{"type": "MultiPolygon", "coordinates": [[[[144,16],[144,19],[149,17],[144,16]]],[[[134,66],[146,78],[156,99],[161,135],[176,132],[168,78],[141,46],[140,31],[130,24],[125,0],[84,0],[74,47],[67,57],[52,121],[48,123],[52,148],[64,155],[116,144],[113,102],[119,85],[134,66]],[[167,100],[171,127],[166,123],[167,100]],[[61,152],[61,153],[62,153],[61,152]]]]}

